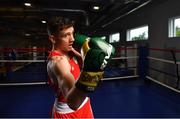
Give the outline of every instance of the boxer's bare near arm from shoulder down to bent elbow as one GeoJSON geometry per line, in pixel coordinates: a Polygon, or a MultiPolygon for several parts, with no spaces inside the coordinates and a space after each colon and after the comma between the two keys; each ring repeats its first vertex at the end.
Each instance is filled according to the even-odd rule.
{"type": "Polygon", "coordinates": [[[84,101],[86,94],[76,89],[75,79],[70,72],[71,66],[68,60],[66,58],[55,60],[53,69],[67,104],[70,108],[76,110],[84,101]]]}

